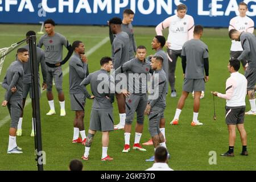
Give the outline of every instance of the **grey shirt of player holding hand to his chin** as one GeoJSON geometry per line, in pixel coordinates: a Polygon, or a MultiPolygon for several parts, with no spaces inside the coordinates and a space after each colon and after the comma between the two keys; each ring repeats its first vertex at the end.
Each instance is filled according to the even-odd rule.
{"type": "Polygon", "coordinates": [[[87,98],[90,98],[85,86],[80,86],[82,80],[88,75],[88,64],[82,63],[80,55],[74,53],[69,61],[69,93],[85,94],[87,98]]]}

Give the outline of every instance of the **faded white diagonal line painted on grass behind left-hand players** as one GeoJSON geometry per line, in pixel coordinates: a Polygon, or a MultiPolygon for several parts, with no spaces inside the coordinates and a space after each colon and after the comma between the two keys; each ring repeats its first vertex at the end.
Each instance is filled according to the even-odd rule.
{"type": "MultiPolygon", "coordinates": [[[[109,37],[105,37],[103,40],[101,40],[101,42],[99,42],[98,44],[96,44],[96,46],[92,47],[88,52],[86,52],[86,56],[90,56],[92,55],[92,53],[94,53],[95,51],[97,51],[98,48],[100,48],[101,46],[103,46],[105,43],[107,43],[109,41],[109,37]]],[[[67,73],[69,72],[69,67],[65,68],[63,71],[63,76],[67,75],[67,73]]],[[[42,91],[42,93],[44,92],[44,90],[42,91]]],[[[31,103],[31,99],[28,98],[25,104],[25,107],[31,103]]],[[[5,125],[5,123],[7,123],[10,120],[10,115],[6,115],[5,118],[3,118],[0,121],[0,127],[2,127],[3,125],[5,125]]]]}

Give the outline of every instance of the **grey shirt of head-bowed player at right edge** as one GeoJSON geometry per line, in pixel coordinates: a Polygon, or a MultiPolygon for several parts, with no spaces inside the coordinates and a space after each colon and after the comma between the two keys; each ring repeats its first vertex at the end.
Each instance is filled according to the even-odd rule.
{"type": "Polygon", "coordinates": [[[256,38],[254,34],[249,32],[241,32],[240,41],[243,52],[237,58],[238,60],[248,61],[250,68],[256,68],[256,38]]]}

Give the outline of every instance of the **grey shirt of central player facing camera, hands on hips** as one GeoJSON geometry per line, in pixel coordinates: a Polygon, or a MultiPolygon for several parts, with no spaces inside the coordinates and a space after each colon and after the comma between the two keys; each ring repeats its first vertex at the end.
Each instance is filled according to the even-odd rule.
{"type": "Polygon", "coordinates": [[[128,76],[128,90],[133,94],[147,93],[147,74],[151,71],[150,61],[143,62],[134,58],[115,70],[115,77],[119,73],[126,72],[128,76]]]}

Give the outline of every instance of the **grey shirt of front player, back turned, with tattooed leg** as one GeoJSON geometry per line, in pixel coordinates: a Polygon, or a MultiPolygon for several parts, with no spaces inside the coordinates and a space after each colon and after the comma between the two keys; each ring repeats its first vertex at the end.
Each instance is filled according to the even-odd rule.
{"type": "MultiPolygon", "coordinates": [[[[114,80],[114,79],[113,79],[114,80]]],[[[114,87],[114,82],[110,84],[110,75],[104,69],[90,73],[82,82],[81,86],[90,84],[93,96],[93,110],[112,111],[114,102],[114,92],[110,93],[110,86],[114,87]],[[109,98],[107,98],[107,97],[109,98]]]]}

